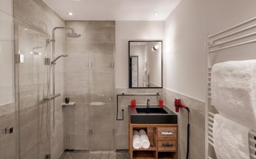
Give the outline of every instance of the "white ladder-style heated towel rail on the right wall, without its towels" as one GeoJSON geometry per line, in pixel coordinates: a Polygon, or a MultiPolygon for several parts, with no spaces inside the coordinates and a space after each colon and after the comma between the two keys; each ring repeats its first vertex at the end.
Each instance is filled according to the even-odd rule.
{"type": "MultiPolygon", "coordinates": [[[[205,159],[215,159],[214,139],[212,127],[214,115],[218,113],[211,102],[211,69],[209,55],[232,47],[256,43],[256,17],[234,25],[228,29],[205,37],[205,62],[206,62],[206,99],[205,99],[205,159]],[[248,33],[249,32],[249,33],[248,33]],[[241,35],[243,34],[243,35],[241,35]]],[[[250,158],[256,159],[256,132],[249,131],[250,158]]]]}

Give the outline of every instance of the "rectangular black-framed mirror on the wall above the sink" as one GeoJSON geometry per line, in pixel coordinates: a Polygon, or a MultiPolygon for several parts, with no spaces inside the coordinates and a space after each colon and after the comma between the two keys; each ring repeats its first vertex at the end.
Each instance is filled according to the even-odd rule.
{"type": "Polygon", "coordinates": [[[162,41],[129,41],[129,88],[163,88],[162,41]]]}

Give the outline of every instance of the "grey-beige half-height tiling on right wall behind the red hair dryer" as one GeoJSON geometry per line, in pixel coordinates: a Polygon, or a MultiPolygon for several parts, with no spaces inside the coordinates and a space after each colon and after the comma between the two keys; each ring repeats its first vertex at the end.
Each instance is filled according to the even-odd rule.
{"type": "MultiPolygon", "coordinates": [[[[203,101],[182,95],[180,93],[163,89],[164,104],[175,112],[174,99],[181,98],[182,103],[186,104],[190,110],[189,124],[190,124],[190,144],[189,144],[189,158],[203,159],[205,158],[205,105],[203,101]]],[[[186,158],[186,144],[187,144],[187,111],[180,109],[178,114],[179,124],[179,146],[178,157],[186,158]]]]}

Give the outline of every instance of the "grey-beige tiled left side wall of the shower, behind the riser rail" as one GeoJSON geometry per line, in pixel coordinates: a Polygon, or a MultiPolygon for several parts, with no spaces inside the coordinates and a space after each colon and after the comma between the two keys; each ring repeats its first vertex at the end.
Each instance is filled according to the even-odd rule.
{"type": "MultiPolygon", "coordinates": [[[[15,32],[14,49],[16,54],[18,52],[18,25],[22,25],[29,29],[37,30],[38,32],[48,35],[52,34],[52,29],[55,26],[65,25],[64,20],[62,20],[41,0],[14,0],[13,3],[15,32]]],[[[64,39],[65,31],[56,31],[55,56],[65,54],[64,39]]],[[[50,55],[52,55],[52,52],[50,55]]],[[[20,101],[22,104],[19,104],[16,107],[16,109],[19,110],[17,113],[17,123],[19,123],[17,139],[20,139],[17,146],[18,155],[20,158],[28,159],[44,158],[46,154],[51,153],[51,158],[58,158],[65,149],[65,109],[61,106],[64,95],[63,59],[59,59],[56,65],[55,92],[60,93],[61,96],[55,98],[55,133],[51,140],[49,140],[46,136],[46,104],[44,101],[42,101],[42,96],[33,95],[36,93],[38,94],[38,92],[45,89],[44,83],[38,83],[38,81],[31,82],[31,78],[36,76],[36,74],[33,75],[31,72],[26,72],[26,70],[23,70],[24,72],[28,73],[28,78],[24,78],[22,85],[18,86],[19,79],[17,76],[17,65],[18,64],[16,64],[15,69],[15,87],[19,87],[19,92],[21,94],[16,93],[16,97],[20,95],[24,99],[20,101]]],[[[24,77],[26,74],[20,74],[19,77],[22,76],[24,77]]]]}

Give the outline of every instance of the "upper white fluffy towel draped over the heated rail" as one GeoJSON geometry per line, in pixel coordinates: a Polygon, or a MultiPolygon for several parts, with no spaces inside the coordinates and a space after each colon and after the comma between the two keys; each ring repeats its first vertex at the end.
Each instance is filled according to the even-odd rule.
{"type": "Polygon", "coordinates": [[[220,115],[256,130],[256,60],[215,64],[211,93],[220,115]]]}

